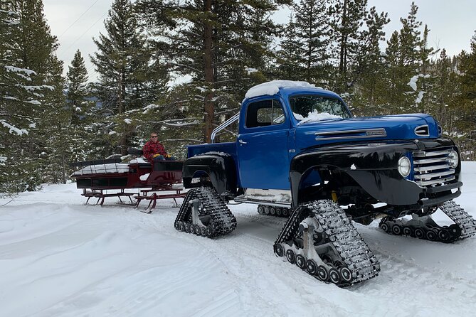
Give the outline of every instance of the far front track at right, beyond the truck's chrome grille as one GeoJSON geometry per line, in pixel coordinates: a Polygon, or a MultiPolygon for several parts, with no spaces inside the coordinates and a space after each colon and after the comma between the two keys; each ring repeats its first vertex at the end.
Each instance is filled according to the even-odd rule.
{"type": "Polygon", "coordinates": [[[476,233],[476,221],[460,205],[449,200],[441,205],[440,210],[448,215],[455,224],[440,227],[431,215],[418,217],[412,215],[413,220],[399,220],[392,217],[384,217],[379,227],[389,234],[406,235],[418,239],[435,242],[451,243],[464,240],[476,233]]]}

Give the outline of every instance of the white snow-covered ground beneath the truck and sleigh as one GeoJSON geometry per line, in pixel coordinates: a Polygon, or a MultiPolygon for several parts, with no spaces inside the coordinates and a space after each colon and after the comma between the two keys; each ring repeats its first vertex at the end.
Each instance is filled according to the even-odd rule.
{"type": "MultiPolygon", "coordinates": [[[[476,216],[476,162],[463,181],[457,202],[476,216]]],[[[0,316],[475,316],[476,237],[444,245],[356,225],[381,274],[339,289],[275,257],[285,220],[255,205],[231,205],[237,229],[211,240],[174,229],[172,200],[147,215],[80,193],[0,199],[0,316]]]]}

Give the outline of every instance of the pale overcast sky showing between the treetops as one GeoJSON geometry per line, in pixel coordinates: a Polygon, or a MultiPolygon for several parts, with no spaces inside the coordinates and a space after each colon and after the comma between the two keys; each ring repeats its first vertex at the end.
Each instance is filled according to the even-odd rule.
{"type": "MultiPolygon", "coordinates": [[[[386,38],[395,30],[400,30],[400,18],[410,11],[411,0],[387,1],[369,0],[369,7],[376,6],[380,11],[388,12],[391,22],[387,24],[386,38]]],[[[418,21],[428,24],[430,34],[428,43],[433,48],[445,48],[450,55],[461,50],[470,50],[470,40],[476,30],[475,0],[416,0],[418,21]],[[458,4],[458,5],[456,5],[458,4]]],[[[95,52],[92,38],[104,33],[104,19],[112,0],[43,0],[44,11],[53,35],[58,37],[60,47],[57,55],[64,61],[66,73],[76,50],[85,58],[90,81],[96,80],[94,67],[89,55],[95,52]]],[[[274,19],[285,23],[290,10],[282,8],[274,19]]],[[[422,26],[423,31],[423,26],[422,26]]],[[[385,44],[383,44],[385,46],[385,44]]]]}

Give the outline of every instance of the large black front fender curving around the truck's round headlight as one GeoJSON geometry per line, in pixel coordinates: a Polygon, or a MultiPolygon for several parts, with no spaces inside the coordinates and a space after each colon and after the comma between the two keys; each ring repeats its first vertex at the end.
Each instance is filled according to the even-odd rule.
{"type": "MultiPolygon", "coordinates": [[[[446,138],[334,144],[309,149],[291,161],[290,182],[294,207],[305,201],[302,183],[312,170],[347,173],[369,195],[388,205],[418,205],[425,188],[398,173],[398,159],[410,151],[454,146],[446,138]]],[[[460,166],[456,169],[459,178],[460,166]]]]}

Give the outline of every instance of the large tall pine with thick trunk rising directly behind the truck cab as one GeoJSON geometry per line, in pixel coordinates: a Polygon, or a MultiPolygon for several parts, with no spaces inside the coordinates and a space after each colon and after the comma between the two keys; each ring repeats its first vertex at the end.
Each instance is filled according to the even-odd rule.
{"type": "Polygon", "coordinates": [[[187,91],[193,95],[187,99],[190,104],[200,100],[201,106],[189,112],[203,116],[203,141],[210,142],[217,122],[237,111],[243,98],[238,92],[263,80],[260,66],[266,67],[265,53],[270,51],[274,28],[269,13],[277,9],[275,2],[139,1],[143,19],[155,28],[154,36],[166,38],[156,46],[170,60],[171,71],[191,77],[187,91]]]}

